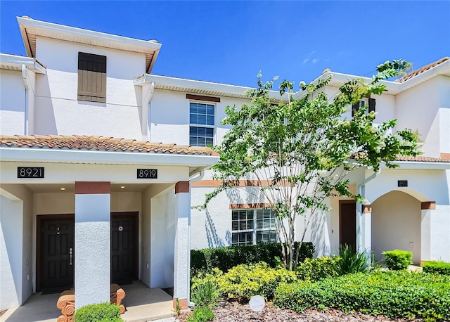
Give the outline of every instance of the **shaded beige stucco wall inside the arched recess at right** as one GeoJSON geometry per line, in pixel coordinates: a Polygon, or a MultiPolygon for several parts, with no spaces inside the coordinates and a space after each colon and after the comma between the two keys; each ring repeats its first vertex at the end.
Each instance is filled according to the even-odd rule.
{"type": "Polygon", "coordinates": [[[408,250],[420,264],[420,201],[392,191],[372,203],[372,251],[376,260],[385,250],[408,250]]]}

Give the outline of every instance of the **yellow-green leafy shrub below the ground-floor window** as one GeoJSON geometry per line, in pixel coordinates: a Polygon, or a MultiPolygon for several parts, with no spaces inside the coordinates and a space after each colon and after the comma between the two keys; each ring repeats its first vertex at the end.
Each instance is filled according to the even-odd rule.
{"type": "Polygon", "coordinates": [[[278,284],[294,281],[297,281],[295,272],[272,269],[264,262],[238,265],[218,278],[221,292],[239,302],[248,302],[254,295],[271,300],[278,284]]]}

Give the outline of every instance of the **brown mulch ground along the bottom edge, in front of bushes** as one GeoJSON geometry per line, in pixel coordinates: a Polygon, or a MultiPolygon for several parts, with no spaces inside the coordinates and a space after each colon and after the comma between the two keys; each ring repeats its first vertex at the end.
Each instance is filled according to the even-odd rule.
{"type": "MultiPolygon", "coordinates": [[[[220,307],[213,309],[215,318],[214,321],[220,322],[291,322],[291,321],[304,321],[304,322],[356,322],[356,321],[377,321],[377,322],[406,322],[406,321],[422,321],[420,319],[408,320],[404,318],[387,318],[385,316],[369,316],[366,314],[349,313],[345,314],[341,311],[328,309],[327,311],[304,311],[302,314],[278,309],[270,304],[267,304],[260,312],[254,312],[250,309],[248,304],[239,304],[237,302],[222,302],[220,307]]],[[[188,313],[180,314],[176,321],[186,322],[188,313]]]]}

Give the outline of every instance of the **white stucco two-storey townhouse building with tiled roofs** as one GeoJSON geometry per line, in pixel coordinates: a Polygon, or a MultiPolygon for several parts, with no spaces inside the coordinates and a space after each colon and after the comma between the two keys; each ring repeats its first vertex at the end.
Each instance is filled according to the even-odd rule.
{"type": "MultiPolygon", "coordinates": [[[[248,88],[153,75],[158,41],[18,25],[27,57],[0,54],[0,310],[74,285],[77,307],[107,302],[111,281],[136,279],[173,286],[187,307],[191,249],[276,240],[248,181],[191,209],[220,184],[206,146],[221,142],[224,107],[247,103],[248,88]]],[[[319,78],[330,73],[328,94],[356,77],[319,78]]],[[[318,256],[349,243],[450,261],[450,60],[385,84],[377,120],[418,130],[424,153],[353,173],[371,205],[328,200],[307,240],[318,256]]]]}

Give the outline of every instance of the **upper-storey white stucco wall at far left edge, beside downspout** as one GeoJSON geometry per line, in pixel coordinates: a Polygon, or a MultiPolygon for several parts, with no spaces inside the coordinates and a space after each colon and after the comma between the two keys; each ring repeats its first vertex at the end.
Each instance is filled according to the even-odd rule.
{"type": "Polygon", "coordinates": [[[21,72],[0,70],[0,133],[25,133],[25,85],[21,72]]]}

